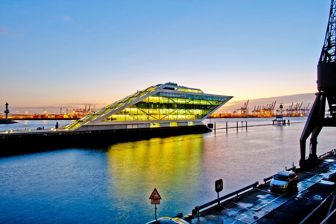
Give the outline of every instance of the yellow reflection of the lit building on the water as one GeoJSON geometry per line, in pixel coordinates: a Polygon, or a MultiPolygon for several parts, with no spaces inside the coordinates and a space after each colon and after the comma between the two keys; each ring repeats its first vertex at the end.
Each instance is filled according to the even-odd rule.
{"type": "Polygon", "coordinates": [[[111,194],[120,200],[139,195],[139,200],[149,201],[156,187],[162,198],[180,195],[190,183],[198,184],[202,149],[201,134],[113,145],[107,152],[111,194]]]}

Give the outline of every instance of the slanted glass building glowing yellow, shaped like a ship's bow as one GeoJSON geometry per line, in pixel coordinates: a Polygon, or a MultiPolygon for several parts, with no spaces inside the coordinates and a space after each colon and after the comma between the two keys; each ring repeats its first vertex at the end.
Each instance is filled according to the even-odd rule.
{"type": "Polygon", "coordinates": [[[200,125],[233,96],[205,94],[200,89],[158,84],[127,96],[62,128],[99,130],[200,125]]]}

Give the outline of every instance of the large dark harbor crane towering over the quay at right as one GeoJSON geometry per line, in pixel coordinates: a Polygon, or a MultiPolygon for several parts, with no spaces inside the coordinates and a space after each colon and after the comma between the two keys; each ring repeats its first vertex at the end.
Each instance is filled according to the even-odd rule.
{"type": "Polygon", "coordinates": [[[336,127],[336,1],[331,1],[326,37],[317,65],[316,98],[300,137],[300,167],[317,162],[317,137],[323,127],[336,127]],[[326,111],[326,101],[329,110],[326,111]],[[327,112],[327,116],[325,115],[327,112]],[[306,159],[306,140],[311,134],[309,157],[306,159]]]}

